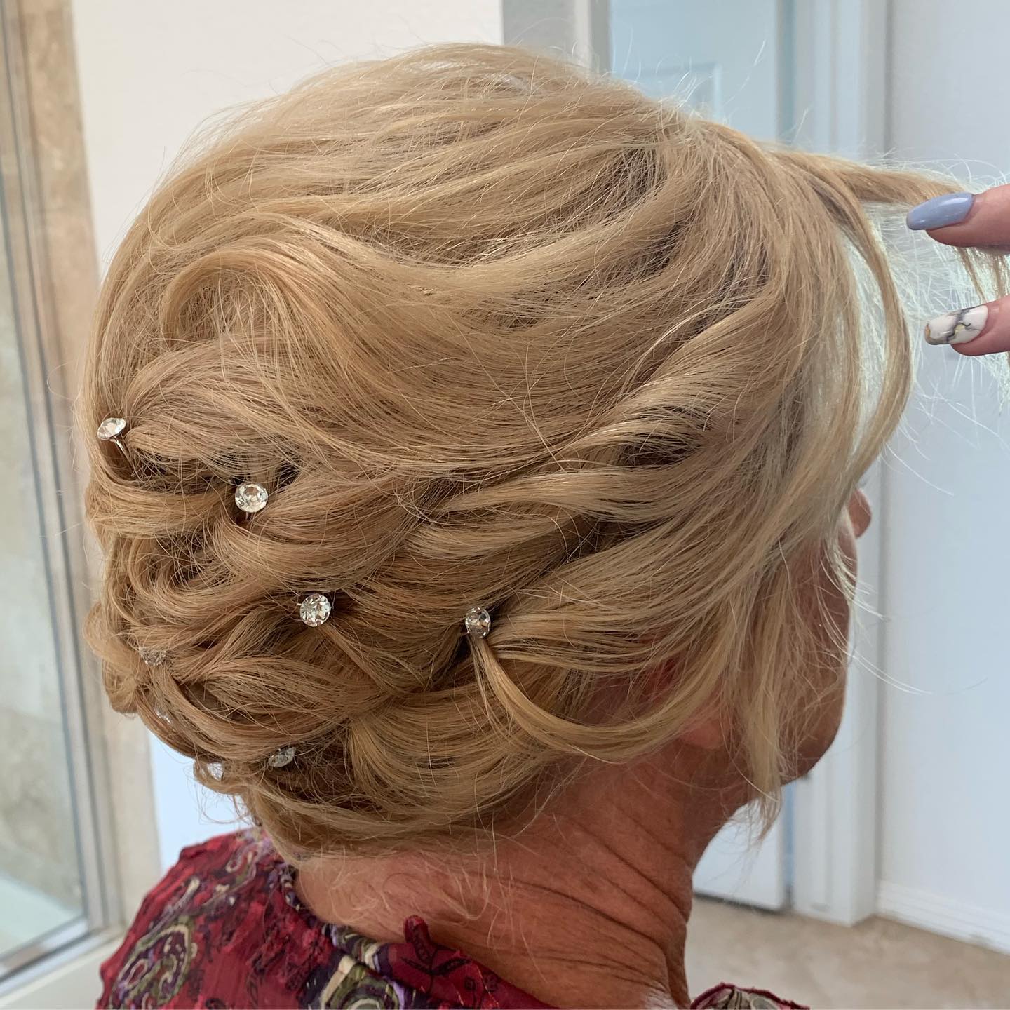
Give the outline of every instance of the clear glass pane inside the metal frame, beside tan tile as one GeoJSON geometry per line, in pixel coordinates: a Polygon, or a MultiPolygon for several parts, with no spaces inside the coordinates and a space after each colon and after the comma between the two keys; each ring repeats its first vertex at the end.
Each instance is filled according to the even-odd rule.
{"type": "MultiPolygon", "coordinates": [[[[0,218],[7,222],[0,190],[0,218]]],[[[0,964],[25,960],[81,919],[84,885],[54,635],[54,585],[39,474],[45,432],[32,417],[15,316],[10,236],[0,243],[0,964]],[[42,444],[39,445],[38,442],[42,444]]]]}

